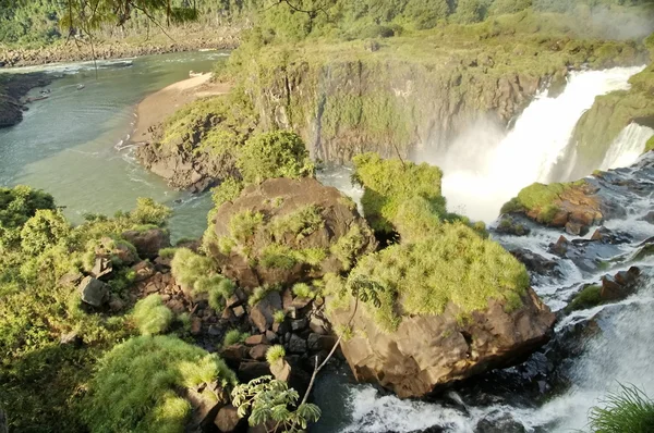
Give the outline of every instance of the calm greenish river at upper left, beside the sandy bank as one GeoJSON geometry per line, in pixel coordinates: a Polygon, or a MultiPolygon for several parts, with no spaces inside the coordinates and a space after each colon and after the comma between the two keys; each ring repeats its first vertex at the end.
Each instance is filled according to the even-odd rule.
{"type": "Polygon", "coordinates": [[[99,61],[97,76],[93,62],[13,70],[45,70],[61,78],[49,86],[48,99],[29,104],[23,122],[0,129],[0,185],[45,189],[75,223],[85,213],[111,215],[132,209],[137,197],[152,197],[173,209],[174,238],[201,236],[210,197],[172,190],[143,170],[124,145],[138,101],[189,77],[190,70],[211,71],[226,55],[207,51],[99,61]]]}

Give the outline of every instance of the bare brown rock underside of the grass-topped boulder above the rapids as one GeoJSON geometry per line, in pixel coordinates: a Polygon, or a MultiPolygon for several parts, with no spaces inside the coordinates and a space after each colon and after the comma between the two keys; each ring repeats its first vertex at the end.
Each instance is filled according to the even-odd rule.
{"type": "MultiPolygon", "coordinates": [[[[457,320],[448,306],[440,316],[403,317],[396,332],[384,333],[364,308],[356,310],[341,348],[359,381],[375,382],[400,397],[423,397],[444,385],[494,368],[521,362],[549,338],[555,316],[529,288],[519,309],[491,300],[484,311],[457,320]]],[[[330,312],[346,326],[350,309],[330,312]]]]}

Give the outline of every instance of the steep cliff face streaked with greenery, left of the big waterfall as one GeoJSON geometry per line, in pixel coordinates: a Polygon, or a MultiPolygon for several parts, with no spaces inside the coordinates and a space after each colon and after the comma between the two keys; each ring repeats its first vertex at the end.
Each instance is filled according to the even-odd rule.
{"type": "Polygon", "coordinates": [[[547,79],[497,74],[489,64],[491,58],[437,69],[387,58],[267,64],[254,69],[250,95],[264,128],[296,131],[313,158],[408,156],[449,141],[482,116],[506,125],[547,79]]]}

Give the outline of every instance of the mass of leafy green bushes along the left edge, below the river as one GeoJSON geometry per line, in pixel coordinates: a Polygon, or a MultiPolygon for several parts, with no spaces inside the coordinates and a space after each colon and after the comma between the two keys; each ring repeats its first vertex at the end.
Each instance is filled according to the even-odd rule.
{"type": "Polygon", "coordinates": [[[132,212],[93,215],[72,226],[51,196],[24,186],[1,188],[0,209],[0,405],[15,431],[85,431],[77,389],[96,360],[136,330],[129,316],[84,305],[75,275],[96,255],[111,259],[109,297],[131,308],[126,263],[138,256],[121,234],[153,215],[165,224],[168,212],[138,200],[132,212]],[[60,344],[65,335],[82,345],[60,344]]]}

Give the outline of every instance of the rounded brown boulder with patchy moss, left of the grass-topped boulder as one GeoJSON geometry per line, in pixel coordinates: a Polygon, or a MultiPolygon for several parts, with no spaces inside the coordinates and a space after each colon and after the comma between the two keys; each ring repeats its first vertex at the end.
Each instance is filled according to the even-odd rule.
{"type": "Polygon", "coordinates": [[[253,288],[340,272],[376,248],[352,200],[314,178],[274,178],[246,187],[214,216],[211,256],[253,288]]]}

